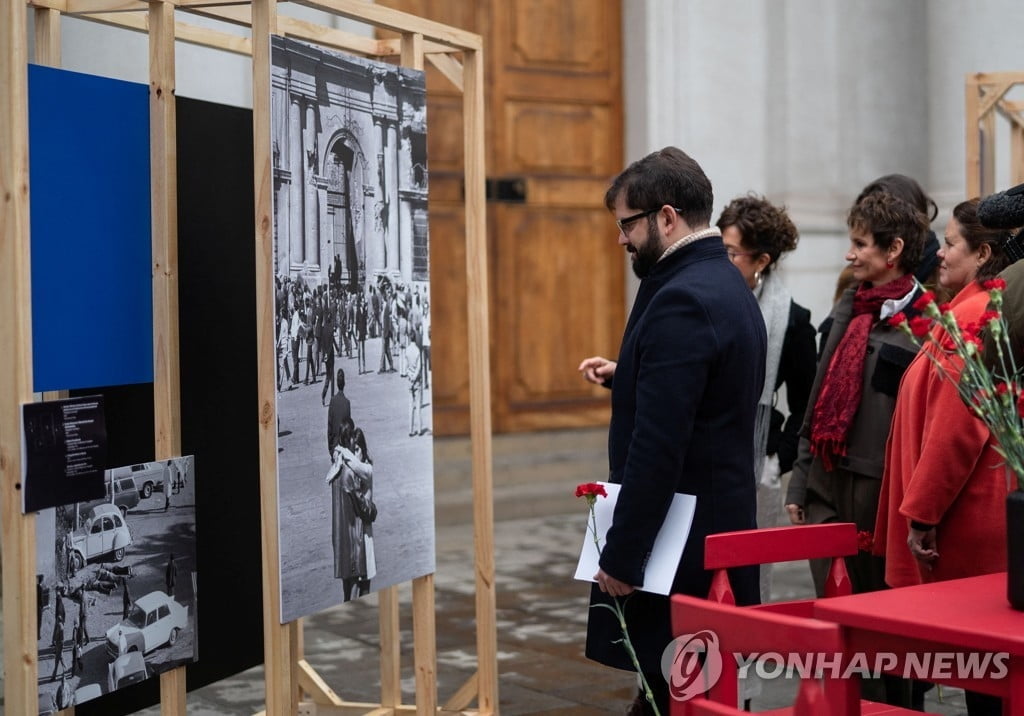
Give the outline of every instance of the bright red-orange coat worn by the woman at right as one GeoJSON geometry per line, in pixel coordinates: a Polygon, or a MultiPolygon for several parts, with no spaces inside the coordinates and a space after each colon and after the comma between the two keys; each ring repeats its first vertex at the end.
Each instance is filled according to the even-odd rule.
{"type": "MultiPolygon", "coordinates": [[[[987,304],[987,292],[971,282],[950,305],[963,325],[977,321],[987,304]]],[[[886,583],[891,587],[1007,568],[1010,483],[1004,460],[992,447],[988,428],[925,350],[935,352],[926,343],[903,376],[886,444],[873,551],[886,557],[886,583]],[[938,525],[939,556],[931,571],[920,568],[907,548],[911,519],[938,525]]],[[[945,357],[943,363],[947,372],[958,376],[957,366],[945,357]]]]}

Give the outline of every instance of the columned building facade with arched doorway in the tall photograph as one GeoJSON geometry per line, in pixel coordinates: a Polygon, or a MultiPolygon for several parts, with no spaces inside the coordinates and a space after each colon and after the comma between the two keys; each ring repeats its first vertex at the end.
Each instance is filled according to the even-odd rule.
{"type": "Polygon", "coordinates": [[[422,73],[274,37],[276,273],[425,282],[422,73]]]}

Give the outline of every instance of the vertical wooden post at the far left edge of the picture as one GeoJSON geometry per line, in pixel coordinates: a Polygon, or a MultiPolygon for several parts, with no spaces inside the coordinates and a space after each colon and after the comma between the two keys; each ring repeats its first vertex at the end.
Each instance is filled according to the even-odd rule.
{"type": "Polygon", "coordinates": [[[36,714],[36,517],[22,514],[22,404],[32,403],[26,4],[0,3],[0,550],[4,708],[36,714]]]}

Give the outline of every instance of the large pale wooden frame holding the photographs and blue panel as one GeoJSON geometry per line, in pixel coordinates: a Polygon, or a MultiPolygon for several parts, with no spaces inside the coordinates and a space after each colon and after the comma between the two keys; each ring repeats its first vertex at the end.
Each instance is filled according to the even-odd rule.
{"type": "MultiPolygon", "coordinates": [[[[34,60],[59,67],[60,16],[146,32],[150,39],[153,172],[154,391],[156,458],[180,453],[177,317],[177,186],[174,49],[177,40],[253,58],[259,458],[262,515],[266,713],[355,714],[498,712],[497,626],[492,500],[490,376],[484,204],[483,47],[479,35],[362,0],[298,4],[395,32],[378,40],[278,12],[276,0],[4,0],[0,2],[0,520],[4,599],[4,698],[10,713],[38,713],[35,634],[35,516],[20,513],[19,412],[34,399],[29,241],[27,8],[35,19],[34,60]],[[175,10],[251,28],[251,37],[177,20],[175,10]],[[274,378],[270,35],[280,34],[368,57],[429,61],[463,92],[466,282],[473,465],[476,672],[442,706],[437,701],[433,575],[413,582],[416,704],[401,703],[397,588],[379,592],[380,703],[341,700],[303,659],[301,621],[280,624],[276,403],[274,378]],[[300,702],[303,693],[311,701],[300,702]],[[467,708],[476,701],[476,709],[467,708]]],[[[184,669],[161,674],[161,712],[185,714],[184,669]]],[[[61,713],[69,713],[71,710],[61,713]]]]}

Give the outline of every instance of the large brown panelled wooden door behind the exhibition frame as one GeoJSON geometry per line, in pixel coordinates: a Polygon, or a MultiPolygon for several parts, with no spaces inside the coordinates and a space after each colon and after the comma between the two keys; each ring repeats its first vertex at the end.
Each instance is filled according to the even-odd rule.
{"type": "MultiPolygon", "coordinates": [[[[494,424],[605,424],[575,368],[613,357],[624,253],[604,208],[622,169],[617,0],[379,0],[484,37],[494,424]]],[[[435,430],[468,431],[462,98],[428,67],[435,430]]]]}

